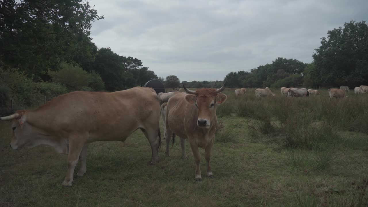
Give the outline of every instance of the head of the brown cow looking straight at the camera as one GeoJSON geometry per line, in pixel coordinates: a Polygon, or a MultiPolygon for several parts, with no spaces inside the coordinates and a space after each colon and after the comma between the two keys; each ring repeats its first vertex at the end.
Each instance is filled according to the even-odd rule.
{"type": "Polygon", "coordinates": [[[221,92],[225,89],[224,85],[219,89],[201,88],[196,91],[189,90],[183,83],[183,88],[188,95],[185,100],[198,108],[197,126],[209,128],[211,120],[216,117],[216,105],[226,101],[227,96],[221,92]]]}

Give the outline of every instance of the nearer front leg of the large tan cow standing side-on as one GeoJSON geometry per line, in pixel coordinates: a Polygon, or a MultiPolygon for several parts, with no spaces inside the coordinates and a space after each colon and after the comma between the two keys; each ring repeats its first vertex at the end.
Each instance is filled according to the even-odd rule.
{"type": "Polygon", "coordinates": [[[63,186],[72,186],[75,165],[78,163],[84,142],[79,137],[69,138],[68,170],[63,186]]]}

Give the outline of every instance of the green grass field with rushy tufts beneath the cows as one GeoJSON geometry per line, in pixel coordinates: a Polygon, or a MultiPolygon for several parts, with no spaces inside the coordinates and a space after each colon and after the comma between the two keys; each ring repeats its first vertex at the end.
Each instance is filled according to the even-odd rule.
{"type": "Polygon", "coordinates": [[[10,122],[0,122],[0,206],[367,206],[368,95],[329,100],[326,90],[302,98],[272,91],[277,97],[224,91],[215,178],[205,176],[201,149],[202,182],[194,180],[188,142],[183,160],[180,142],[166,157],[162,140],[160,162],[151,166],[149,143],[136,131],[125,143],[91,143],[87,173],[63,187],[67,155],[48,146],[13,151],[10,122]]]}

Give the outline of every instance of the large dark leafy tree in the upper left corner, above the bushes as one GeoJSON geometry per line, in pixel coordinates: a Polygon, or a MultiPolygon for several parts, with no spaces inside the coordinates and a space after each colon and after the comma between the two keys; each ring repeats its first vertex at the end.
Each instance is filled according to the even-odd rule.
{"type": "MultiPolygon", "coordinates": [[[[102,19],[88,1],[1,0],[0,66],[18,68],[33,80],[61,61],[93,62],[91,22],[102,19]]],[[[87,67],[87,66],[86,66],[87,67]]]]}

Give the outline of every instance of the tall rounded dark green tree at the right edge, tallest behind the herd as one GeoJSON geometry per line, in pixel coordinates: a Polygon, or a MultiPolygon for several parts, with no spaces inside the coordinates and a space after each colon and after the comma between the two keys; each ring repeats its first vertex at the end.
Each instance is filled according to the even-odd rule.
{"type": "Polygon", "coordinates": [[[312,55],[309,75],[314,86],[368,84],[368,25],[350,21],[327,32],[312,55]]]}

